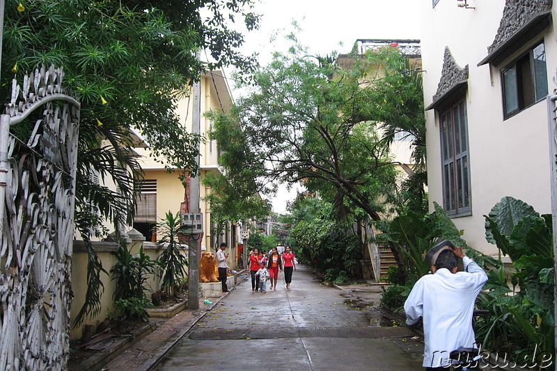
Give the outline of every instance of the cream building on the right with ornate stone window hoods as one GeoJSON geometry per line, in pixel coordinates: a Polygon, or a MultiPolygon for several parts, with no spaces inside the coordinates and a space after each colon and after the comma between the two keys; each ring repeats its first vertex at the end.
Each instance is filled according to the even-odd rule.
{"type": "Polygon", "coordinates": [[[502,197],[551,213],[555,13],[549,0],[421,0],[430,211],[489,254],[484,215],[502,197]]]}

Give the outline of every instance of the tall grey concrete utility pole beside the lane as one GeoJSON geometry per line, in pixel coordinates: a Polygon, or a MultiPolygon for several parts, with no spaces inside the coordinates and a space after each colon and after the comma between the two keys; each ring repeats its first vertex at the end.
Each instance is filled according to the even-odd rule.
{"type": "MultiPolygon", "coordinates": [[[[201,133],[201,76],[200,81],[194,83],[194,109],[191,115],[191,133],[199,135],[201,133]]],[[[199,149],[199,147],[198,147],[199,149]]],[[[199,154],[196,156],[196,163],[199,165],[199,154]]],[[[189,182],[189,212],[199,213],[199,176],[192,176],[189,182]]],[[[203,217],[203,215],[202,215],[203,217]]],[[[187,307],[189,309],[199,308],[199,234],[196,233],[189,239],[188,249],[188,289],[187,307]]]]}

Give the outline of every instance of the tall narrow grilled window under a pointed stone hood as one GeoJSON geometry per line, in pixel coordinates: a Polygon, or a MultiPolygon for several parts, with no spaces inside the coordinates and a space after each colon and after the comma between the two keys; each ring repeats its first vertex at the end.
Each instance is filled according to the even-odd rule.
{"type": "Polygon", "coordinates": [[[470,161],[466,101],[441,113],[443,206],[448,215],[471,215],[470,161]]]}

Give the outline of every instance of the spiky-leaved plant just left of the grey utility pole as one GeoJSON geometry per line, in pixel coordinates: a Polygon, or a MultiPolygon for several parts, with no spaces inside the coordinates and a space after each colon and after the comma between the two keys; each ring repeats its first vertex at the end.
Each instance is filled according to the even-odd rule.
{"type": "MultiPolygon", "coordinates": [[[[191,226],[180,221],[180,213],[173,215],[171,211],[161,218],[162,222],[157,223],[157,234],[161,236],[159,249],[163,249],[159,256],[162,267],[162,289],[168,295],[177,295],[181,286],[182,279],[186,276],[187,257],[185,247],[180,243],[180,234],[185,233],[191,226]]],[[[157,252],[159,251],[157,249],[157,252]]]]}

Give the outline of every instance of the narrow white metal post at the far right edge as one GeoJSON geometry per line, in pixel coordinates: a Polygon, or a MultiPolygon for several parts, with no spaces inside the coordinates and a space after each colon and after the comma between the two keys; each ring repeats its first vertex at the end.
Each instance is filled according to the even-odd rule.
{"type": "MultiPolygon", "coordinates": [[[[551,163],[551,220],[553,226],[554,283],[557,283],[557,108],[556,95],[547,97],[547,124],[549,128],[549,161],[551,163]]],[[[557,286],[554,285],[554,318],[557,319],[557,286]]],[[[557,355],[557,321],[554,357],[557,355]]],[[[556,359],[556,358],[553,358],[556,359]]]]}

